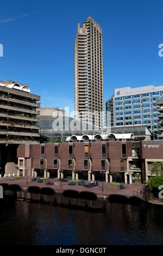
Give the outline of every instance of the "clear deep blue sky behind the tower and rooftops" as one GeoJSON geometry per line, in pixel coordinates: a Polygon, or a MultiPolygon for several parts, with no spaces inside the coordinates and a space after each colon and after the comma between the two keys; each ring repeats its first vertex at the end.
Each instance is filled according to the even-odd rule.
{"type": "Polygon", "coordinates": [[[105,101],[115,88],[162,86],[162,3],[1,0],[0,80],[27,84],[41,107],[74,111],[74,40],[91,16],[103,29],[105,101]]]}

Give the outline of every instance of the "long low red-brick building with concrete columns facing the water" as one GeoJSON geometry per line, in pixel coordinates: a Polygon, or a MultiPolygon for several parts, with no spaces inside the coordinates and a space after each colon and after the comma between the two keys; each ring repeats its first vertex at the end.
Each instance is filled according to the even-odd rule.
{"type": "Polygon", "coordinates": [[[19,145],[20,175],[145,183],[151,163],[163,161],[162,141],[85,141],[19,145]]]}

